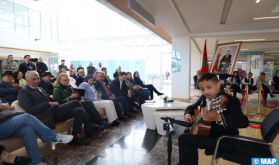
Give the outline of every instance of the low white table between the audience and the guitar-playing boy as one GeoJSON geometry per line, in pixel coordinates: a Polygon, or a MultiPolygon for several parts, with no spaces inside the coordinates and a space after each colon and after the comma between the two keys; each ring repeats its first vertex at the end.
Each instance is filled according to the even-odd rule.
{"type": "MultiPolygon", "coordinates": [[[[155,120],[154,120],[154,112],[156,110],[160,110],[160,112],[169,112],[171,114],[172,111],[181,111],[181,114],[183,115],[185,108],[189,106],[190,103],[187,102],[181,102],[181,101],[174,101],[174,102],[169,102],[169,103],[164,103],[164,100],[157,100],[156,103],[147,103],[147,104],[142,104],[142,113],[144,117],[144,121],[146,124],[146,127],[151,130],[156,129],[155,125],[155,120]],[[171,109],[171,110],[166,110],[166,111],[161,111],[161,109],[171,109]]],[[[158,111],[159,112],[159,111],[158,111]]],[[[163,126],[159,126],[162,127],[163,126]]]]}

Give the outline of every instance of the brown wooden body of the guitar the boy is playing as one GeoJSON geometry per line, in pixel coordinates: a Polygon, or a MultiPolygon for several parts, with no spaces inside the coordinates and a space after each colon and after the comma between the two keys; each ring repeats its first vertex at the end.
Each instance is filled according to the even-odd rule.
{"type": "Polygon", "coordinates": [[[194,115],[193,115],[193,125],[190,130],[190,134],[197,135],[197,136],[204,136],[208,137],[210,134],[210,129],[211,129],[211,122],[206,122],[206,121],[199,121],[196,123],[197,116],[200,114],[199,108],[194,110],[194,115]],[[196,124],[194,124],[196,123],[196,124]]]}

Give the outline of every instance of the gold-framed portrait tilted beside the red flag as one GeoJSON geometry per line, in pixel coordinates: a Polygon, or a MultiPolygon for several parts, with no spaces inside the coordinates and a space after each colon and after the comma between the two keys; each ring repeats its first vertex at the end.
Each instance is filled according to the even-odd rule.
{"type": "Polygon", "coordinates": [[[242,41],[218,44],[209,72],[233,74],[241,45],[242,41]]]}

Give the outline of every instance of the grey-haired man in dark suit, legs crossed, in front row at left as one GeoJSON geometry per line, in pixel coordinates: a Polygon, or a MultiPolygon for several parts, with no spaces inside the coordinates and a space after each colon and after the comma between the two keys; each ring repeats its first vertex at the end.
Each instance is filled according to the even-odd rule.
{"type": "MultiPolygon", "coordinates": [[[[87,137],[91,137],[95,132],[92,124],[86,116],[79,101],[69,101],[63,105],[55,102],[39,85],[39,74],[36,71],[26,73],[27,85],[18,93],[18,102],[25,112],[35,116],[50,129],[55,129],[55,123],[63,122],[74,118],[72,135],[73,140],[70,145],[89,145],[89,142],[78,139],[78,134],[82,134],[82,124],[87,137]]],[[[37,141],[36,141],[37,143],[37,141]]]]}

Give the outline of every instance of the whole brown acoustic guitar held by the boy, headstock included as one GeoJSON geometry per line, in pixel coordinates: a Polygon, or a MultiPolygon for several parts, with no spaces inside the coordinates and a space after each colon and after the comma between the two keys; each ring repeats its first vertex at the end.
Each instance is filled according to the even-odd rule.
{"type": "MultiPolygon", "coordinates": [[[[208,111],[217,111],[217,112],[223,112],[228,103],[228,98],[226,96],[219,96],[215,99],[213,99],[210,102],[210,105],[206,105],[206,108],[208,111]]],[[[200,108],[204,108],[200,106],[200,108]]],[[[194,110],[194,115],[192,116],[193,123],[192,128],[190,130],[190,133],[197,136],[205,136],[208,137],[211,130],[211,122],[209,121],[203,121],[201,111],[199,108],[194,110]]]]}

